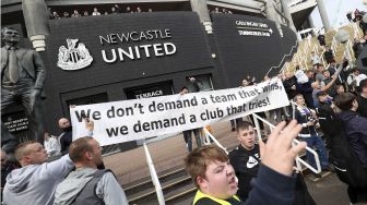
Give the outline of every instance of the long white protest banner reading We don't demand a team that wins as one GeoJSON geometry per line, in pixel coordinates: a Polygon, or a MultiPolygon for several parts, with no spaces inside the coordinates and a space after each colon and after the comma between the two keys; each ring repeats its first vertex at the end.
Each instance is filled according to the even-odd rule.
{"type": "Polygon", "coordinates": [[[248,87],[75,106],[70,116],[73,136],[86,133],[83,118],[90,118],[95,126],[93,137],[100,145],[110,145],[202,128],[287,105],[282,81],[275,77],[248,87]]]}

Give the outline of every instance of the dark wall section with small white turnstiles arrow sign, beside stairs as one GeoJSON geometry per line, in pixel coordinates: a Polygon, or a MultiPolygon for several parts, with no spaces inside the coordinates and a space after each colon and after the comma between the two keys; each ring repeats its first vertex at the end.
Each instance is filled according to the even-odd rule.
{"type": "Polygon", "coordinates": [[[214,35],[221,50],[229,87],[240,85],[247,76],[261,81],[277,67],[296,43],[294,33],[283,27],[283,37],[271,20],[236,14],[212,14],[214,35]],[[291,37],[288,37],[291,36],[291,37]]]}

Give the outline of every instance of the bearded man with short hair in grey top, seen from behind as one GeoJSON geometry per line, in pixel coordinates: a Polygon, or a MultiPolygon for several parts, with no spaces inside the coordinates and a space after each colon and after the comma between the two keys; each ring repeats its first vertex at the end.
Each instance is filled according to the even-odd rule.
{"type": "Polygon", "coordinates": [[[75,170],[57,186],[58,204],[128,204],[121,185],[110,170],[97,169],[103,165],[102,147],[93,137],[75,140],[69,148],[75,170]]]}

